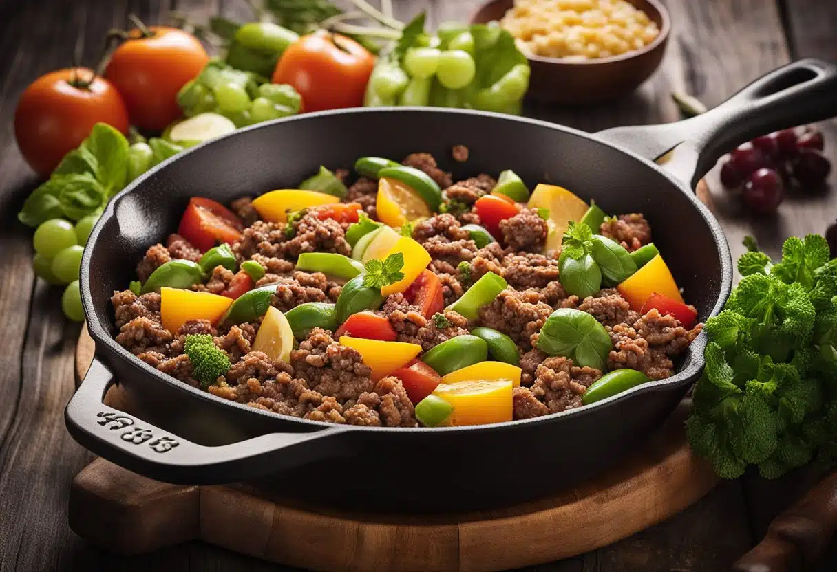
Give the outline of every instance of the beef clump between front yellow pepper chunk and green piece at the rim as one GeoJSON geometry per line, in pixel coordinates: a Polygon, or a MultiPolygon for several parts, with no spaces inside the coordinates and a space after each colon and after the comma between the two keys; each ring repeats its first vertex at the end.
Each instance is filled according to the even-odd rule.
{"type": "Polygon", "coordinates": [[[518,387],[513,393],[515,419],[558,413],[581,406],[581,397],[602,372],[592,367],[576,367],[566,357],[548,357],[537,366],[531,387],[518,387]],[[541,403],[543,407],[536,404],[541,403]]]}

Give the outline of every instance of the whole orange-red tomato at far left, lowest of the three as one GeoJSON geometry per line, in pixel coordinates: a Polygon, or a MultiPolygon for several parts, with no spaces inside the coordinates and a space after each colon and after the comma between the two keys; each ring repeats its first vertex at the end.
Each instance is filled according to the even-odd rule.
{"type": "Polygon", "coordinates": [[[114,86],[91,69],[58,69],[21,94],[14,137],[29,166],[46,177],[100,122],[128,133],[128,111],[114,86]]]}

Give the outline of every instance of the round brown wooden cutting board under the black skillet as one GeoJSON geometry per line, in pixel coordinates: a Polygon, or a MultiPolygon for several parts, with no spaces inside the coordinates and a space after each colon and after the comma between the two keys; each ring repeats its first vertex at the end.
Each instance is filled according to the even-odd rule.
{"type": "MultiPolygon", "coordinates": [[[[81,379],[93,359],[83,329],[81,379]]],[[[105,401],[130,404],[111,387],[105,401]]],[[[433,572],[514,569],[583,554],[679,513],[717,483],[686,443],[688,400],[645,447],[583,486],[485,513],[433,518],[340,513],[277,502],[244,485],[159,483],[96,459],[75,478],[69,525],[119,554],[141,554],[192,539],[314,570],[433,572]]]]}

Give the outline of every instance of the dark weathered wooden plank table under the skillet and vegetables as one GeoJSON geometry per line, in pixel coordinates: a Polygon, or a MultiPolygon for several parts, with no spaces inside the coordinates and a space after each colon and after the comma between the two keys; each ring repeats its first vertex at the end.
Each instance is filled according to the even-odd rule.
{"type": "MultiPolygon", "coordinates": [[[[676,120],[672,90],[716,105],[747,81],[789,59],[837,60],[837,3],[823,0],[664,0],[674,24],[668,52],[654,78],[635,94],[589,109],[531,107],[529,115],[598,130],[676,120]]],[[[395,0],[400,18],[426,10],[431,25],[465,20],[475,0],[395,0]]],[[[15,218],[35,183],[14,145],[18,95],[40,74],[67,67],[74,50],[91,64],[111,26],[127,13],[162,21],[177,8],[194,18],[210,13],[248,16],[242,0],[0,0],[0,570],[282,569],[201,543],[134,558],[93,549],[67,526],[67,494],[90,461],[64,428],[74,391],[73,348],[80,328],[61,314],[60,291],[35,279],[32,232],[15,218]],[[175,4],[177,4],[175,6],[175,4]]],[[[837,162],[837,121],[823,125],[837,162]]],[[[834,193],[788,197],[778,217],[749,217],[708,177],[733,254],[745,234],[778,253],[785,237],[824,232],[837,217],[834,193]]],[[[837,175],[831,176],[837,188],[837,175]]],[[[770,518],[809,486],[803,475],[765,483],[721,483],[693,507],[643,533],[577,558],[532,570],[723,570],[761,539],[770,518]]],[[[95,518],[95,515],[90,515],[95,518]]],[[[834,552],[834,551],[832,551],[834,552]]],[[[837,569],[837,555],[820,566],[837,569]]]]}

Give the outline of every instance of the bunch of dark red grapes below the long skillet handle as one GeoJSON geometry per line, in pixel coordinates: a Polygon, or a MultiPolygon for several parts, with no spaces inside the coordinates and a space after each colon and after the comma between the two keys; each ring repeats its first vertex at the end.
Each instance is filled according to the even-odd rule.
{"type": "Polygon", "coordinates": [[[738,146],[721,166],[721,182],[740,189],[747,207],[761,214],[776,211],[785,188],[822,186],[831,171],[823,155],[823,134],[814,125],[775,131],[738,146]]]}

